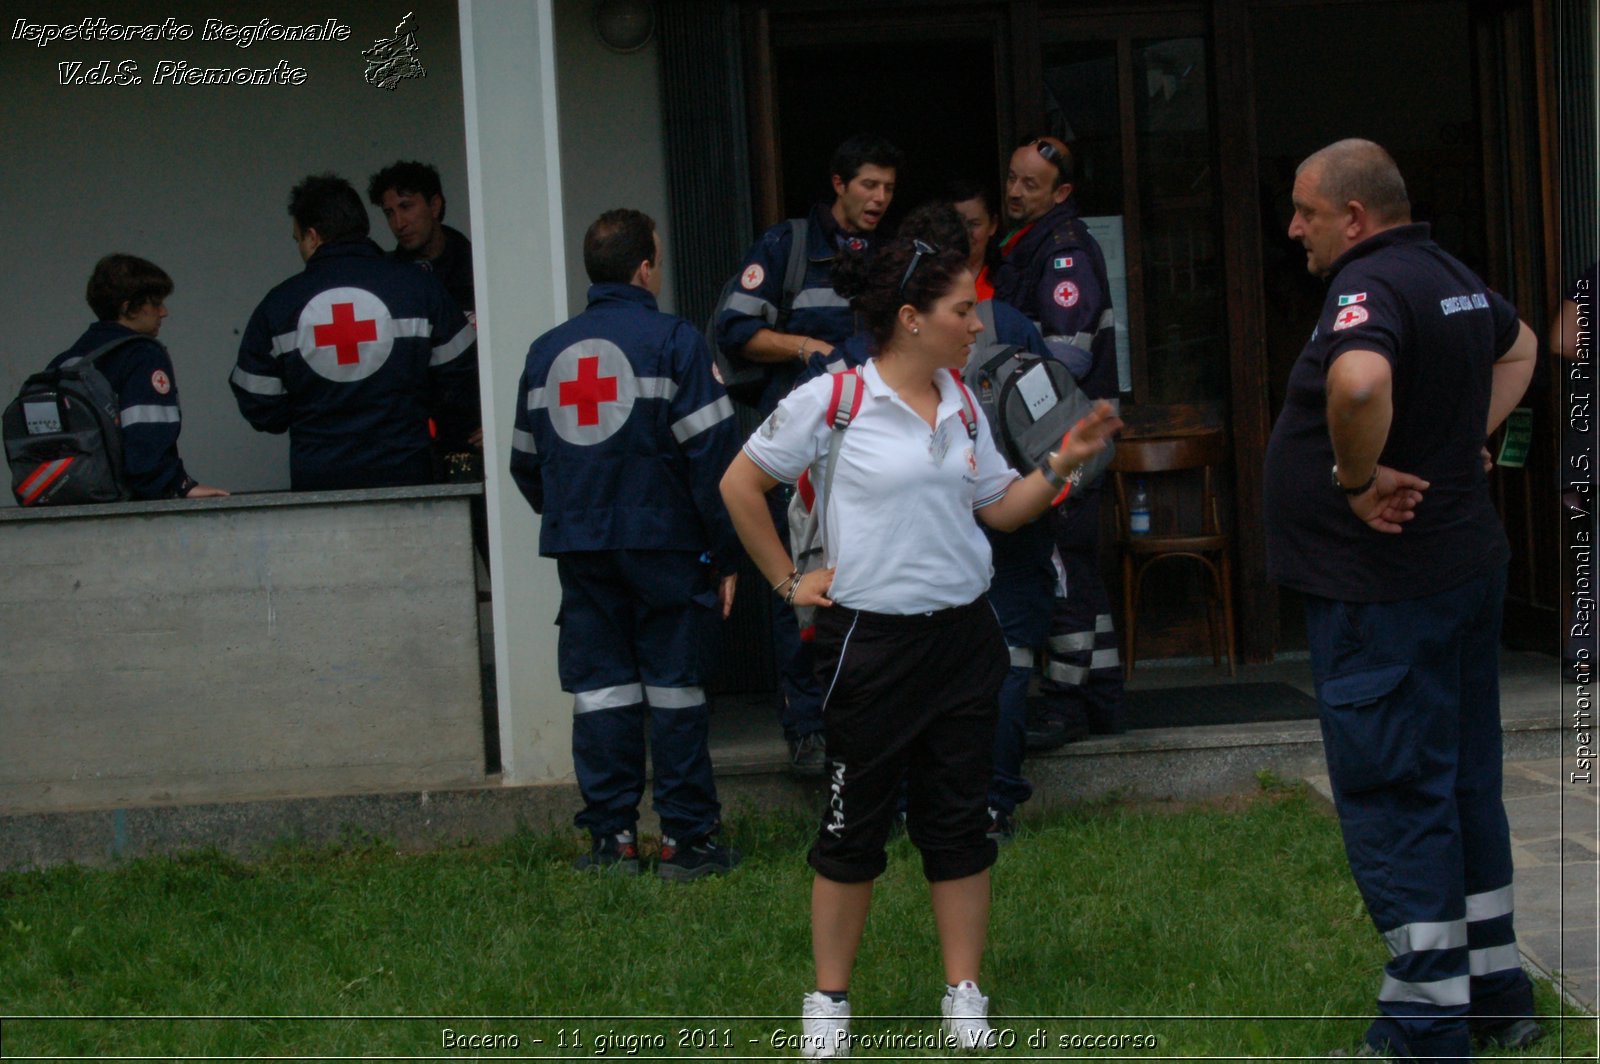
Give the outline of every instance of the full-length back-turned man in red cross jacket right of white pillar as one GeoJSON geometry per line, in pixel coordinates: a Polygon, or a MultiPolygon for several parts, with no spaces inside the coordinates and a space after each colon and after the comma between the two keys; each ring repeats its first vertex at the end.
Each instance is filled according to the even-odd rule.
{"type": "Polygon", "coordinates": [[[730,870],[707,749],[702,653],[742,557],[717,488],[739,448],[710,350],[661,314],[650,216],[606,211],[584,237],[589,309],[533,342],[510,472],[562,579],[557,648],[589,829],[581,869],[638,872],[634,826],[654,760],[667,880],[730,870]],[[718,576],[722,574],[722,576],[718,576]]]}

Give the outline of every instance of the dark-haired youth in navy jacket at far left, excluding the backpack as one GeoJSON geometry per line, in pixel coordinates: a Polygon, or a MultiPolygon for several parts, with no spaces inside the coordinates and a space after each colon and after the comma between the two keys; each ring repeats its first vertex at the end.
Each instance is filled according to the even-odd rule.
{"type": "Polygon", "coordinates": [[[94,264],[85,291],[99,320],[51,358],[50,368],[104,352],[94,365],[117,392],[122,464],[134,499],[224,496],[227,491],[190,477],[178,456],[182,432],[178,373],[166,346],[157,339],[171,293],[173,278],[155,262],[134,254],[107,254],[94,264]]]}

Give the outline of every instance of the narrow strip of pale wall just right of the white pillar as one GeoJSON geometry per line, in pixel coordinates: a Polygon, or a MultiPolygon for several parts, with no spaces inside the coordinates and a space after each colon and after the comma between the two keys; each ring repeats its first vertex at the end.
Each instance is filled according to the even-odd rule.
{"type": "MultiPolygon", "coordinates": [[[[672,238],[658,42],[629,54],[610,51],[595,35],[594,8],[594,0],[555,3],[566,291],[573,314],[586,304],[582,243],[595,218],[614,206],[632,206],[656,219],[664,242],[672,238]]],[[[659,299],[669,312],[677,291],[672,282],[669,267],[659,299]]]]}

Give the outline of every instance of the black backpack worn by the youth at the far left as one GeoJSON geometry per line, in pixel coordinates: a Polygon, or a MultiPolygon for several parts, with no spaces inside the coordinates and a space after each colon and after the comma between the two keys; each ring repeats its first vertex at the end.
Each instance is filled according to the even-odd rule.
{"type": "Polygon", "coordinates": [[[144,336],[120,336],[82,358],[35,373],[0,414],[11,494],[19,506],[120,502],[131,496],[122,464],[117,392],[101,357],[144,336]]]}

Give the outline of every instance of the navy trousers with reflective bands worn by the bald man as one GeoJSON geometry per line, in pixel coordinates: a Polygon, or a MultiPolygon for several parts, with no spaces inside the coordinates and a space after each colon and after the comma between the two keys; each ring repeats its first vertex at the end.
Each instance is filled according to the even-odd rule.
{"type": "Polygon", "coordinates": [[[1472,1027],[1533,1014],[1501,802],[1504,590],[1501,568],[1424,598],[1306,597],[1344,850],[1392,955],[1366,1040],[1402,1059],[1470,1059],[1472,1027]]]}

